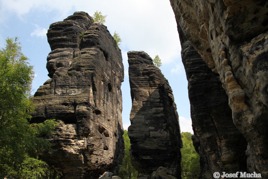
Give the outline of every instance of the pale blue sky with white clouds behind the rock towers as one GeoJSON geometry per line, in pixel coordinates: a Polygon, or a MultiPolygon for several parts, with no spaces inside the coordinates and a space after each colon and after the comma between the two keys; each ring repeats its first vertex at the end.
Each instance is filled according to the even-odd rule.
{"type": "Polygon", "coordinates": [[[34,66],[36,77],[33,93],[49,79],[46,57],[51,51],[46,39],[51,23],[62,21],[75,11],[107,15],[111,34],[116,31],[125,68],[123,95],[123,127],[130,125],[131,97],[127,51],[145,51],[152,58],[159,55],[160,68],[173,90],[182,132],[192,132],[187,80],[181,62],[181,47],[174,13],[168,0],[0,0],[0,47],[7,37],[19,37],[22,51],[34,66]]]}

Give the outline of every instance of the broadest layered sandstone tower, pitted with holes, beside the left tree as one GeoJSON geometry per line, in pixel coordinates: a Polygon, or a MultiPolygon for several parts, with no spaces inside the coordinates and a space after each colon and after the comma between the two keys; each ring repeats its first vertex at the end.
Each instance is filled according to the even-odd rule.
{"type": "Polygon", "coordinates": [[[34,94],[33,122],[60,122],[50,138],[52,153],[41,158],[62,178],[116,174],[124,155],[122,127],[123,63],[107,27],[75,12],[50,25],[48,76],[34,94]]]}

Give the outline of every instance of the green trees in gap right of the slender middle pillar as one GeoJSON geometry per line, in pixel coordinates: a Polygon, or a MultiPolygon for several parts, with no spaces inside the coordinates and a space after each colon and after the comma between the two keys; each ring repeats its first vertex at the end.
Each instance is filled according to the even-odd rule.
{"type": "MultiPolygon", "coordinates": [[[[199,155],[195,151],[193,142],[191,139],[190,132],[182,132],[182,144],[183,147],[180,149],[182,160],[181,160],[181,171],[182,176],[195,175],[199,173],[199,155]]],[[[184,178],[192,178],[192,176],[184,177],[184,178]]]]}

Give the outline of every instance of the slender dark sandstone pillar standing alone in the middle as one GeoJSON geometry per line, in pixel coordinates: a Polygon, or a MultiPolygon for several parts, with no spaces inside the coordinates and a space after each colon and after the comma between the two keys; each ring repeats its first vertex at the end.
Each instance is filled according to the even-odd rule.
{"type": "Polygon", "coordinates": [[[149,178],[160,166],[180,178],[182,141],[172,90],[161,71],[143,51],[127,53],[132,99],[131,163],[139,178],[149,178]]]}

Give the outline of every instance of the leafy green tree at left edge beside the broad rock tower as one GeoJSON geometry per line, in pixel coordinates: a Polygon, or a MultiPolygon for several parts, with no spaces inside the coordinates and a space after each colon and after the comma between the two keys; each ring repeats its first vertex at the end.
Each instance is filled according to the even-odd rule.
{"type": "Polygon", "coordinates": [[[0,178],[18,178],[29,172],[35,178],[47,168],[37,154],[51,146],[44,137],[52,134],[57,122],[30,124],[33,77],[33,66],[21,52],[18,38],[7,38],[0,50],[0,178]]]}

